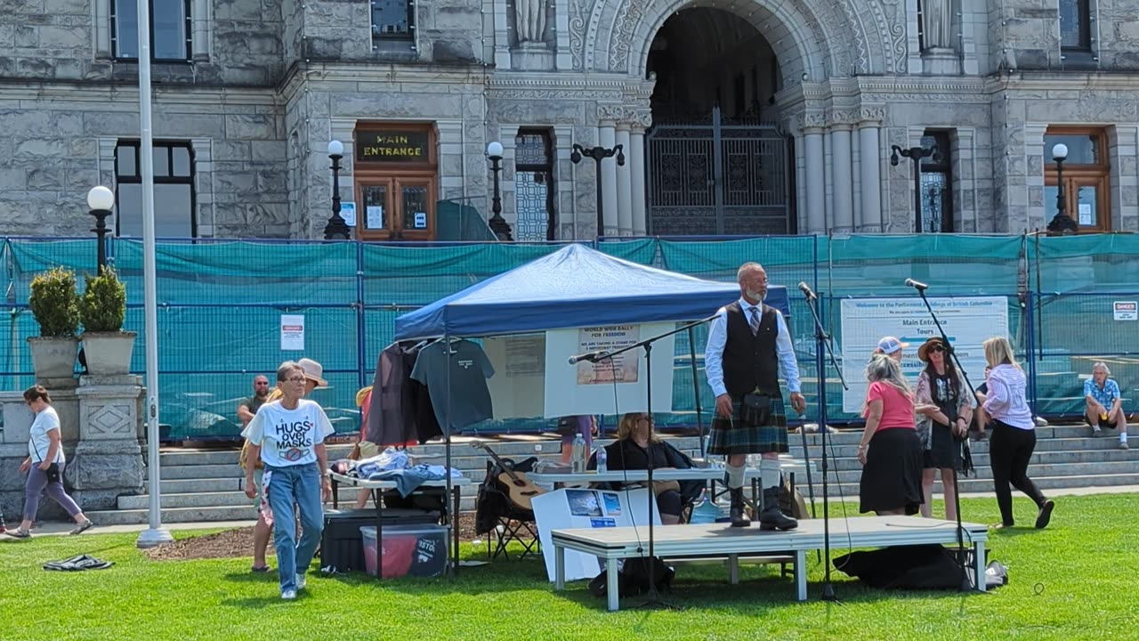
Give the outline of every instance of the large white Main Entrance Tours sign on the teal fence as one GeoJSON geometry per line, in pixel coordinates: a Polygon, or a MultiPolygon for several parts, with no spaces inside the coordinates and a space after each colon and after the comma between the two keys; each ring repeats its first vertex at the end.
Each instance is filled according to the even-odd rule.
{"type": "MultiPolygon", "coordinates": [[[[957,350],[965,373],[974,386],[984,381],[985,352],[981,343],[990,336],[1008,335],[1008,300],[1005,297],[931,298],[945,335],[957,350]]],[[[902,371],[916,386],[925,366],[918,359],[918,347],[940,335],[925,303],[918,297],[843,299],[842,339],[843,376],[850,387],[843,392],[843,412],[858,413],[866,400],[867,360],[878,339],[898,336],[910,343],[902,358],[902,371]]]]}

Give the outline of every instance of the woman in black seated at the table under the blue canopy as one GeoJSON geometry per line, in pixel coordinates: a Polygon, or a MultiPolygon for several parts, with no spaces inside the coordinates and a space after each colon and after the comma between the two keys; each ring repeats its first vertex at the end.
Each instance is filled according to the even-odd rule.
{"type": "MultiPolygon", "coordinates": [[[[607,464],[613,470],[647,470],[649,456],[653,470],[688,469],[693,460],[672,445],[661,440],[653,430],[653,421],[648,414],[631,412],[621,417],[617,425],[617,440],[605,447],[607,464]]],[[[589,469],[597,468],[596,455],[589,462],[589,469]]],[[[685,503],[691,502],[699,494],[702,482],[696,481],[658,481],[656,486],[656,506],[661,511],[663,525],[680,522],[685,503]]],[[[620,484],[613,484],[615,489],[620,484]]]]}

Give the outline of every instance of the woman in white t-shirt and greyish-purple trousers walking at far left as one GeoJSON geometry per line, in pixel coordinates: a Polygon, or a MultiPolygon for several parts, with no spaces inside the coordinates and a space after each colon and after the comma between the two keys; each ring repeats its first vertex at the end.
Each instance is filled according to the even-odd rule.
{"type": "Polygon", "coordinates": [[[91,520],[64,489],[66,459],[59,440],[59,415],[51,407],[51,397],[43,386],[33,386],[24,390],[24,403],[35,413],[35,420],[28,430],[27,459],[19,465],[21,472],[27,472],[27,484],[24,486],[24,522],[5,534],[15,538],[32,536],[32,524],[35,521],[35,513],[40,511],[40,494],[44,489],[52,501],[59,503],[75,519],[77,525],[71,533],[84,532],[91,527],[91,520]]]}

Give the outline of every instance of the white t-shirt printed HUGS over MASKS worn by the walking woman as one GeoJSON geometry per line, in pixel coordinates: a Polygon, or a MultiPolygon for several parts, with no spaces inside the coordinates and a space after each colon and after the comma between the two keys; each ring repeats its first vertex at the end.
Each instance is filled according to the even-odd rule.
{"type": "Polygon", "coordinates": [[[265,465],[287,468],[316,462],[317,445],[334,431],[320,405],[302,398],[296,409],[286,409],[280,403],[262,405],[241,436],[261,447],[265,465]]]}

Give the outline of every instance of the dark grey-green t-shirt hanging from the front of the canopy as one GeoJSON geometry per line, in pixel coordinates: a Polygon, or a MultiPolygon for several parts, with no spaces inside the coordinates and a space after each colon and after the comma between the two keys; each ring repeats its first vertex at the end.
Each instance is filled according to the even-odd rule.
{"type": "Polygon", "coordinates": [[[494,375],[494,367],[477,343],[460,340],[444,344],[432,343],[419,351],[411,378],[427,386],[440,425],[445,424],[448,393],[451,397],[451,430],[461,430],[494,415],[486,379],[494,375]],[[451,354],[448,354],[450,348],[451,354]],[[448,363],[451,366],[448,389],[448,363]]]}

